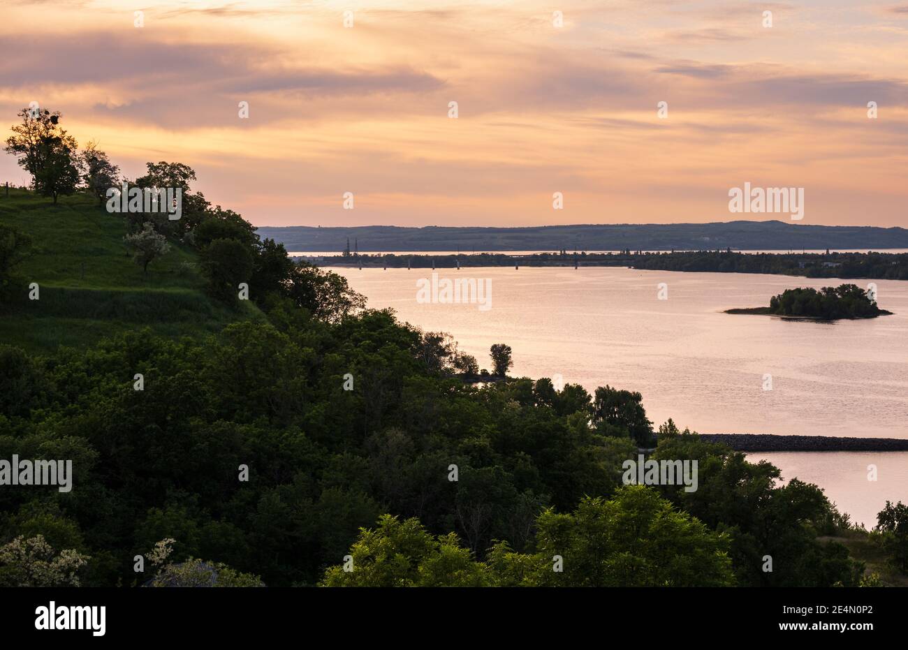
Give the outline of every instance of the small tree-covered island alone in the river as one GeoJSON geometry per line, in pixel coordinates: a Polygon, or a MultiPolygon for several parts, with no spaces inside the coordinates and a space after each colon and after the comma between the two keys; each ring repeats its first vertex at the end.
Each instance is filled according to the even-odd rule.
{"type": "Polygon", "coordinates": [[[805,320],[873,319],[892,314],[881,310],[869,291],[856,284],[838,287],[786,289],[769,300],[769,307],[725,310],[726,314],[763,314],[805,320]]]}

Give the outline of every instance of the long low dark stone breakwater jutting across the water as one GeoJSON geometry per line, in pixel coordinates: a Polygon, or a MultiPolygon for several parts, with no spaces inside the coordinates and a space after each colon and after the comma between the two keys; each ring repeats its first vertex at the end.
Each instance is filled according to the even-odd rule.
{"type": "Polygon", "coordinates": [[[700,438],[735,451],[908,451],[908,439],[775,436],[765,433],[701,433],[700,438]]]}

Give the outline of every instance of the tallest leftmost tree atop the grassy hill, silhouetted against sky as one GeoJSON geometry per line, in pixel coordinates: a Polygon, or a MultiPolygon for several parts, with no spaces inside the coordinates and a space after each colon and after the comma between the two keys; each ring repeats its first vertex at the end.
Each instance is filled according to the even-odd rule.
{"type": "Polygon", "coordinates": [[[32,174],[35,192],[53,196],[72,194],[79,182],[75,165],[75,139],[60,127],[61,113],[24,108],[16,113],[21,124],[12,127],[5,152],[18,156],[18,163],[32,174]]]}

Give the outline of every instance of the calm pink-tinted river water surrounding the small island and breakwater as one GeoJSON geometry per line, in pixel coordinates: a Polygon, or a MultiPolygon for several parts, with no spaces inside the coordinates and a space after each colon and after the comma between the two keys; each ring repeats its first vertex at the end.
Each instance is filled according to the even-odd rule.
{"type": "MultiPolygon", "coordinates": [[[[430,270],[333,271],[370,308],[449,332],[480,367],[489,368],[489,346],[507,343],[513,376],[638,390],[656,425],[672,418],[701,433],[908,438],[908,282],[874,281],[892,316],[828,323],[723,310],[843,281],[609,267],[437,271],[439,280],[488,282],[489,309],[480,309],[417,300],[417,281],[430,270]]],[[[760,456],[786,479],[817,483],[868,527],[886,498],[908,502],[908,453],[760,456]],[[878,479],[861,483],[869,464],[878,479]]]]}

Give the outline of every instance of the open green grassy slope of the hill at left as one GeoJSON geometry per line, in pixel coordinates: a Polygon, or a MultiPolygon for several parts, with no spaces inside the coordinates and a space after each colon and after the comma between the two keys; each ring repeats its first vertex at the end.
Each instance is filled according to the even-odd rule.
{"type": "Polygon", "coordinates": [[[198,336],[232,320],[261,319],[252,302],[238,311],[203,291],[198,256],[171,242],[147,275],[123,245],[123,217],[85,195],[50,199],[25,190],[0,191],[0,223],[32,238],[28,258],[15,267],[37,282],[40,300],[0,305],[0,341],[26,350],[83,346],[118,331],[151,327],[168,336],[198,336]]]}

